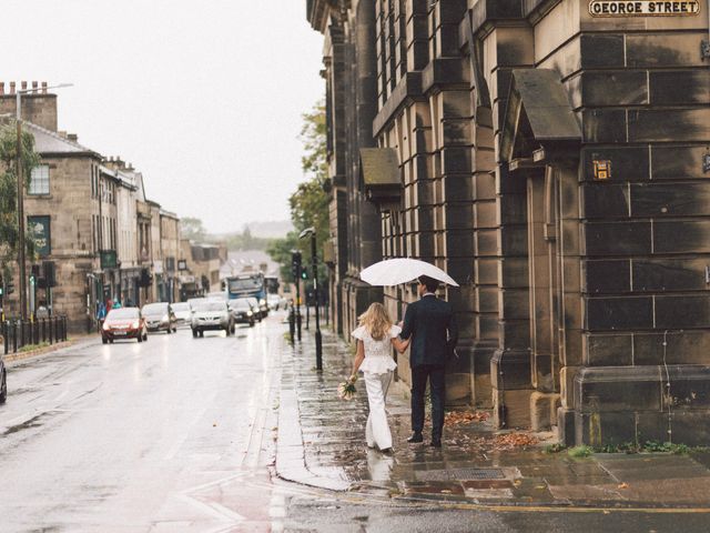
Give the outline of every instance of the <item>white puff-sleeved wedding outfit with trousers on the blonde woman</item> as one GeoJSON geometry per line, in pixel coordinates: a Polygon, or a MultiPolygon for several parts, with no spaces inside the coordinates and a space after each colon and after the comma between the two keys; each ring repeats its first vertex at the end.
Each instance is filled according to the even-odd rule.
{"type": "Polygon", "coordinates": [[[369,447],[379,450],[392,447],[392,433],[387,423],[385,411],[385,398],[392,381],[392,373],[397,368],[392,359],[392,339],[402,332],[397,325],[389,329],[387,335],[381,340],[372,338],[362,325],[353,331],[353,336],[363,341],[365,359],[359,370],[365,374],[365,388],[367,390],[367,403],[369,415],[365,429],[365,439],[369,447]]]}

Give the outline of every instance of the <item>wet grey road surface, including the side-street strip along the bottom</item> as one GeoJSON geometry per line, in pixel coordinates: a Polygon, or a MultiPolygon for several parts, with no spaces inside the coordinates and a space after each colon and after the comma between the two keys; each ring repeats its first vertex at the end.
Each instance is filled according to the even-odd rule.
{"type": "Polygon", "coordinates": [[[281,482],[281,318],[233,338],[181,330],[13,366],[0,406],[0,532],[708,530],[709,515],[691,510],[475,507],[281,482]]]}

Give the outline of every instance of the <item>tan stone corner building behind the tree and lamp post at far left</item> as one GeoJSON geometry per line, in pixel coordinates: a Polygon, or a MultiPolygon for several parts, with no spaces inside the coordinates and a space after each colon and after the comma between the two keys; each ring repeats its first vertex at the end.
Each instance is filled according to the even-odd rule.
{"type": "Polygon", "coordinates": [[[112,220],[108,192],[103,200],[100,192],[102,158],[73,135],[31,122],[23,127],[34,137],[34,149],[41,155],[24,198],[28,229],[42,244],[39,259],[54,264],[57,280],[55,286],[37,290],[37,302],[65,314],[70,330],[85,331],[101,294],[102,278],[97,275],[101,232],[110,238],[105,232],[112,220]]]}

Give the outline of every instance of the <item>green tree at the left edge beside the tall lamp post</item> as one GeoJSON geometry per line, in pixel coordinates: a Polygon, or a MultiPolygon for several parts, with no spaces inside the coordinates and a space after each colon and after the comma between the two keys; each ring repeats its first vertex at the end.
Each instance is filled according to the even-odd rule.
{"type": "MultiPolygon", "coordinates": [[[[12,265],[17,263],[19,244],[18,224],[18,175],[17,175],[17,142],[18,135],[14,124],[0,127],[0,272],[4,279],[12,274],[12,265]]],[[[40,155],[34,151],[34,137],[22,133],[22,177],[27,189],[30,184],[32,169],[40,164],[40,155]]],[[[26,232],[26,257],[33,261],[34,238],[26,232]]]]}

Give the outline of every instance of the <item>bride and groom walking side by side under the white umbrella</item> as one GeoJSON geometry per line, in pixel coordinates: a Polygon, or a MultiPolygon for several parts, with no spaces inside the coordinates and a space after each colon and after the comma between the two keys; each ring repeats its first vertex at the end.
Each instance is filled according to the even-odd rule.
{"type": "Polygon", "coordinates": [[[452,305],[436,296],[439,282],[426,275],[418,278],[420,299],[407,306],[400,325],[392,323],[382,303],[373,303],[359,316],[359,326],[353,331],[357,352],[353,363],[354,381],[358,371],[365,376],[369,415],[365,438],[369,447],[392,452],[392,433],[385,412],[385,398],[397,364],[392,348],[412,352],[412,436],[409,443],[424,442],[424,395],[429,382],[432,394],[432,441],[442,447],[446,362],[456,348],[458,329],[452,305]]]}

